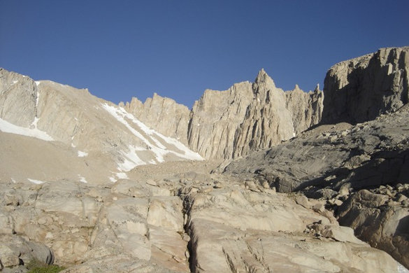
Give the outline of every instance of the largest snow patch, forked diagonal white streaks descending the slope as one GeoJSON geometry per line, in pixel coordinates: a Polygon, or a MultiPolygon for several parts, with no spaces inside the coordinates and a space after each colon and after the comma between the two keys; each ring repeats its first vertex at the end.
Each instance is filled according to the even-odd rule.
{"type": "MultiPolygon", "coordinates": [[[[110,106],[108,104],[102,104],[103,109],[108,111],[114,118],[116,118],[120,123],[125,125],[132,134],[135,135],[138,139],[141,139],[143,143],[148,147],[149,151],[154,153],[156,162],[164,162],[164,156],[168,153],[173,153],[174,155],[178,156],[179,158],[185,158],[187,160],[203,160],[203,158],[198,154],[194,153],[193,151],[189,150],[185,145],[183,145],[180,141],[173,139],[171,137],[165,137],[162,134],[159,134],[155,130],[150,129],[148,126],[143,124],[137,118],[135,118],[131,113],[128,113],[122,107],[117,106],[110,106]],[[132,123],[138,126],[148,137],[144,137],[143,134],[138,132],[134,127],[129,125],[128,121],[125,119],[131,120],[132,123]],[[180,152],[178,151],[171,151],[164,146],[159,139],[162,139],[162,143],[166,142],[167,144],[171,144],[175,146],[180,152]]],[[[122,152],[124,155],[124,162],[118,165],[119,169],[128,172],[130,169],[138,165],[145,165],[147,163],[153,163],[155,160],[149,160],[148,162],[144,162],[141,158],[138,157],[136,151],[145,151],[145,148],[137,147],[137,146],[128,146],[129,151],[122,152]]],[[[156,163],[155,162],[155,163],[156,163]]]]}

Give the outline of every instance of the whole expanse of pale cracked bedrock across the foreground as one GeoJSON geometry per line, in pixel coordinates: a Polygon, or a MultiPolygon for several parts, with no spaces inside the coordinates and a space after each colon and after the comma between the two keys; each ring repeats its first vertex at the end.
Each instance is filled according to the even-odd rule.
{"type": "MultiPolygon", "coordinates": [[[[206,162],[157,168],[184,169],[183,179],[195,169],[204,172],[206,162]]],[[[1,197],[18,200],[0,198],[1,217],[8,219],[0,260],[22,267],[18,251],[3,244],[14,237],[41,241],[43,248],[31,246],[31,255],[54,257],[68,267],[64,272],[397,272],[389,255],[339,227],[325,207],[313,209],[322,202],[301,207],[292,195],[224,174],[171,182],[162,172],[105,186],[0,183],[1,197]],[[48,249],[52,256],[44,255],[48,249]]]]}

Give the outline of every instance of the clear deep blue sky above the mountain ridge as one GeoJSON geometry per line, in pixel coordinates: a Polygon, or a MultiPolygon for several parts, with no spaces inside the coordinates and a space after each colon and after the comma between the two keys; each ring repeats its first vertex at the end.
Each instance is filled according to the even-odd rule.
{"type": "Polygon", "coordinates": [[[0,0],[0,66],[111,102],[192,106],[253,81],[313,90],[336,62],[409,45],[409,1],[0,0]]]}

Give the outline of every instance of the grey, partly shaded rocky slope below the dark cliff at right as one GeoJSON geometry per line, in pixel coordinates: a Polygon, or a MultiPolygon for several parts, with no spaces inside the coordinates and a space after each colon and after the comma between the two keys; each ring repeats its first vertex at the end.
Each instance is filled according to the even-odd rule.
{"type": "MultiPolygon", "coordinates": [[[[338,207],[334,210],[342,225],[354,228],[360,239],[408,267],[407,192],[385,190],[375,195],[361,190],[382,185],[399,188],[399,183],[409,181],[408,124],[409,105],[354,126],[321,125],[268,151],[235,160],[225,172],[280,192],[299,190],[328,200],[325,206],[338,207]],[[361,192],[347,200],[357,190],[361,192]]],[[[296,201],[309,207],[302,198],[296,201]]]]}

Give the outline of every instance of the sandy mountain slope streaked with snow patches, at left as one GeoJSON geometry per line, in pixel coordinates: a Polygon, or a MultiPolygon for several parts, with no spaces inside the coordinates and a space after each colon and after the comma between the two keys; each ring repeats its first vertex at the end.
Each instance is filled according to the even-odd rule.
{"type": "Polygon", "coordinates": [[[202,159],[87,90],[5,69],[0,87],[3,179],[106,183],[138,165],[202,159]]]}

